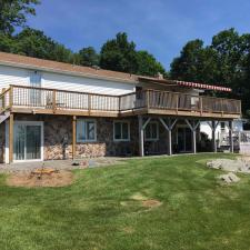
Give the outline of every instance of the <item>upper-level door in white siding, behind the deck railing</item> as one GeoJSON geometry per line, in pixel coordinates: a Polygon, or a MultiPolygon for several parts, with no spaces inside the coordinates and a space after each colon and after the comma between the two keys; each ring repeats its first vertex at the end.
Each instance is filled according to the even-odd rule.
{"type": "MultiPolygon", "coordinates": [[[[30,87],[41,88],[41,74],[39,72],[36,71],[30,76],[30,87]]],[[[41,90],[30,89],[29,91],[30,104],[33,107],[41,106],[41,90]]]]}

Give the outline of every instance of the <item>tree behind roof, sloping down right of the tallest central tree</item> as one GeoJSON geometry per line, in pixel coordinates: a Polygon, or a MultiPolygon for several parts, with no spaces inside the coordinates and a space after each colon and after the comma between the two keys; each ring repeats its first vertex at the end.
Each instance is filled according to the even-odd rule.
{"type": "Polygon", "coordinates": [[[137,52],[138,74],[156,77],[158,72],[166,74],[163,66],[148,51],[137,52]]]}

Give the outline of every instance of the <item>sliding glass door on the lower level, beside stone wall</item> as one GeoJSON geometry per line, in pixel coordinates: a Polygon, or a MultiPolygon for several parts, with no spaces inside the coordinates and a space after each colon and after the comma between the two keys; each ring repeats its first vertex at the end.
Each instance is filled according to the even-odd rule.
{"type": "Polygon", "coordinates": [[[13,160],[42,160],[42,124],[16,123],[13,160]]]}

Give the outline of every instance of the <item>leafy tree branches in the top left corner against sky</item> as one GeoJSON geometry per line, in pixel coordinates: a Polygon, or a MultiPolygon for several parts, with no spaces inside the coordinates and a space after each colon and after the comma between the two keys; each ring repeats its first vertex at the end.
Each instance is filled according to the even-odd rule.
{"type": "Polygon", "coordinates": [[[36,14],[39,0],[0,0],[0,33],[11,34],[16,27],[23,27],[27,14],[36,14]]]}

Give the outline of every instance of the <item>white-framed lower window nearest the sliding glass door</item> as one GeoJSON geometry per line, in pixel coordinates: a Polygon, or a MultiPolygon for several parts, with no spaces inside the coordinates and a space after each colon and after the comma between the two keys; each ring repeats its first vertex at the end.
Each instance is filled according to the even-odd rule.
{"type": "Polygon", "coordinates": [[[77,142],[96,141],[97,124],[96,120],[77,120],[77,142]]]}

